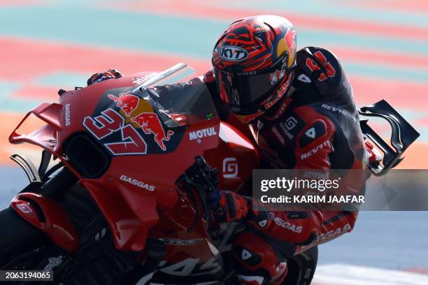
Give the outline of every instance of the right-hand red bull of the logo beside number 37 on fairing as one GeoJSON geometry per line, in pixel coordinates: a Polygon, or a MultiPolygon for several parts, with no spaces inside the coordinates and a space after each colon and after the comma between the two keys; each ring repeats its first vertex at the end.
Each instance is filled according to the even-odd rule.
{"type": "Polygon", "coordinates": [[[152,133],[155,136],[155,142],[157,145],[159,145],[162,150],[166,150],[164,141],[169,141],[174,132],[169,130],[165,133],[164,127],[155,113],[143,112],[132,118],[131,121],[138,124],[138,126],[141,126],[141,129],[145,134],[152,133]]]}

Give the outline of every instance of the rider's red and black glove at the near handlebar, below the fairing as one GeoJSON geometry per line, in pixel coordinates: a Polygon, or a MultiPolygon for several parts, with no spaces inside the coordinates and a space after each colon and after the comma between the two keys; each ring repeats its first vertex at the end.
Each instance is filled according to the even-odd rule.
{"type": "MultiPolygon", "coordinates": [[[[217,200],[217,199],[215,199],[217,200]]],[[[248,214],[248,200],[232,191],[220,191],[217,201],[211,199],[213,218],[219,223],[241,221],[248,214]]]]}

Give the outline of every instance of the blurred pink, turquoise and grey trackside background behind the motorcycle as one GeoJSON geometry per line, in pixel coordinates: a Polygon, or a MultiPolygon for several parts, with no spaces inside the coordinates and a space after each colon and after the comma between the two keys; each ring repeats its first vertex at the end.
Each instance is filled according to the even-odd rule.
{"type": "MultiPolygon", "coordinates": [[[[287,17],[299,48],[334,52],[359,106],[383,98],[394,106],[421,133],[400,167],[428,168],[426,0],[0,0],[0,206],[27,183],[10,154],[38,154],[8,144],[28,110],[108,68],[130,74],[186,62],[203,73],[228,24],[257,14],[287,17]]],[[[320,247],[316,282],[428,284],[409,273],[427,272],[427,221],[427,212],[361,213],[354,233],[320,247]]]]}

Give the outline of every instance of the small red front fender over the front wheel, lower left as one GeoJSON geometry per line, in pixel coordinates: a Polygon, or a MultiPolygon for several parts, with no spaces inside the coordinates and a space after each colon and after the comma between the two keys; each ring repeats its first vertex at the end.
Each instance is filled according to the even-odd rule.
{"type": "Polygon", "coordinates": [[[37,193],[20,193],[10,206],[31,225],[46,233],[53,243],[69,253],[76,252],[80,239],[69,214],[55,201],[37,193]]]}

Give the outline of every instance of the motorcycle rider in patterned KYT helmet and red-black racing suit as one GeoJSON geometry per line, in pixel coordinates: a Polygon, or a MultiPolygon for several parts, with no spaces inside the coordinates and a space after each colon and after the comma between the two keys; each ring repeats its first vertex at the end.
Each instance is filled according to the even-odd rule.
{"type": "MultiPolygon", "coordinates": [[[[212,63],[204,82],[219,115],[252,136],[260,168],[365,168],[364,140],[343,66],[320,47],[297,51],[296,31],[287,19],[262,15],[232,23],[215,44],[212,63]]],[[[120,76],[115,70],[97,73],[88,85],[120,76]]],[[[232,253],[240,284],[257,285],[282,284],[293,274],[285,258],[352,231],[357,212],[256,211],[240,194],[222,191],[215,217],[252,221],[232,253]]]]}

